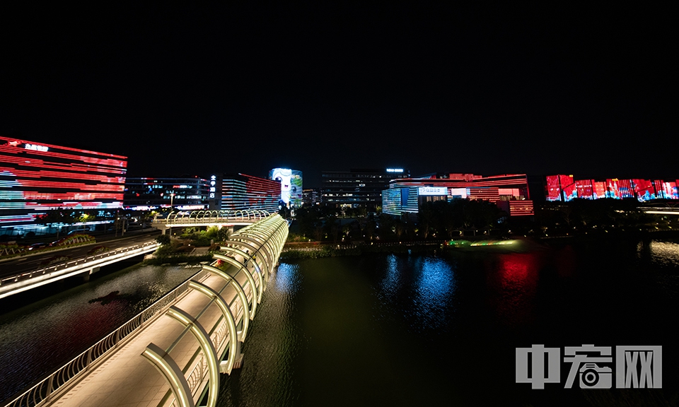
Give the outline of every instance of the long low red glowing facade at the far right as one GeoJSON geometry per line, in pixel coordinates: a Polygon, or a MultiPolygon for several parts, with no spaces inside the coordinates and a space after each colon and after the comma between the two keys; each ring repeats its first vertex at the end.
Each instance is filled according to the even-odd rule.
{"type": "Polygon", "coordinates": [[[617,179],[604,181],[594,179],[573,179],[572,175],[547,176],[547,201],[571,201],[571,199],[625,199],[639,201],[652,199],[679,199],[679,179],[617,179]]]}

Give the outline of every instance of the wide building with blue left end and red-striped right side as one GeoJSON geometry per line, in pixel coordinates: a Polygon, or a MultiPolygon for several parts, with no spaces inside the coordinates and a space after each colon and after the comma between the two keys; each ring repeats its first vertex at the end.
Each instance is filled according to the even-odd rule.
{"type": "Polygon", "coordinates": [[[493,175],[432,174],[419,178],[394,179],[382,191],[382,211],[401,216],[418,213],[426,201],[481,199],[493,202],[509,216],[533,215],[525,174],[493,175]]]}

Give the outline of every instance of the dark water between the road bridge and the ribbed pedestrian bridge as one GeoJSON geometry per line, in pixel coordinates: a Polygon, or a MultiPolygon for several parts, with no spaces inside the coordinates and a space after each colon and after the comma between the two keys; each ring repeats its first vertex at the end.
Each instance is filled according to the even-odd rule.
{"type": "MultiPolygon", "coordinates": [[[[64,365],[197,271],[134,266],[95,274],[88,283],[0,315],[0,402],[64,365]],[[102,297],[108,300],[96,301],[102,297]]],[[[50,290],[62,287],[57,283],[50,290]]]]}

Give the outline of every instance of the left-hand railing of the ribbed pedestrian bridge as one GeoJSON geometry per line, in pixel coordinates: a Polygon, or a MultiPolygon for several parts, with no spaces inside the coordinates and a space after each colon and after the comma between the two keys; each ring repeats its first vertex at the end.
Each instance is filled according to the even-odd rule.
{"type": "Polygon", "coordinates": [[[129,334],[132,334],[135,330],[144,326],[146,322],[153,319],[153,317],[156,317],[163,310],[172,305],[173,302],[178,300],[181,295],[187,292],[189,281],[201,281],[207,277],[208,274],[209,272],[204,270],[195,273],[188,278],[187,281],[170,291],[170,293],[163,295],[159,300],[153,302],[153,305],[144,309],[144,311],[132,317],[132,319],[129,319],[129,321],[125,322],[120,328],[116,329],[111,334],[108,334],[108,336],[105,336],[105,338],[95,343],[88,348],[88,350],[85,350],[83,353],[76,356],[76,358],[66,363],[66,365],[62,366],[59,370],[50,374],[48,377],[45,377],[45,379],[42,379],[33,387],[8,403],[6,407],[36,407],[40,406],[45,401],[49,401],[50,397],[54,394],[54,391],[57,391],[62,388],[64,384],[78,377],[81,372],[86,372],[94,362],[108,353],[108,351],[115,348],[124,338],[127,338],[129,334]]]}

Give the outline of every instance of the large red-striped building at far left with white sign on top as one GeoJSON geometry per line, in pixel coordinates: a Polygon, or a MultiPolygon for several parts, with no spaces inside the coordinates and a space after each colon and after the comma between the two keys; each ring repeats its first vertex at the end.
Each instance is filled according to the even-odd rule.
{"type": "Polygon", "coordinates": [[[52,209],[122,208],[127,157],[0,136],[0,234],[52,209]]]}

